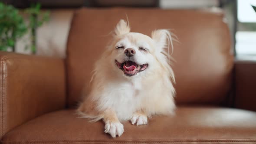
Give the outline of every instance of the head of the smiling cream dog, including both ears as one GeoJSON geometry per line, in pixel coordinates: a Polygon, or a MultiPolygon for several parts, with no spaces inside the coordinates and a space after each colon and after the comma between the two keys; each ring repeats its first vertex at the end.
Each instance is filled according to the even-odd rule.
{"type": "Polygon", "coordinates": [[[131,33],[129,24],[120,20],[115,27],[112,44],[108,46],[109,59],[114,68],[127,78],[152,74],[157,69],[169,71],[169,55],[165,48],[171,42],[171,33],[166,29],[154,30],[151,37],[141,33],[131,33]]]}

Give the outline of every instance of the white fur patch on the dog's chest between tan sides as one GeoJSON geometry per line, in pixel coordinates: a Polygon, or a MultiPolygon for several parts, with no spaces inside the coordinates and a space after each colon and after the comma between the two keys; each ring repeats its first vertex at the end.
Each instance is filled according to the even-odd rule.
{"type": "Polygon", "coordinates": [[[144,88],[141,81],[111,82],[105,86],[102,98],[99,99],[105,108],[113,108],[120,120],[128,120],[140,109],[144,99],[144,88]]]}

